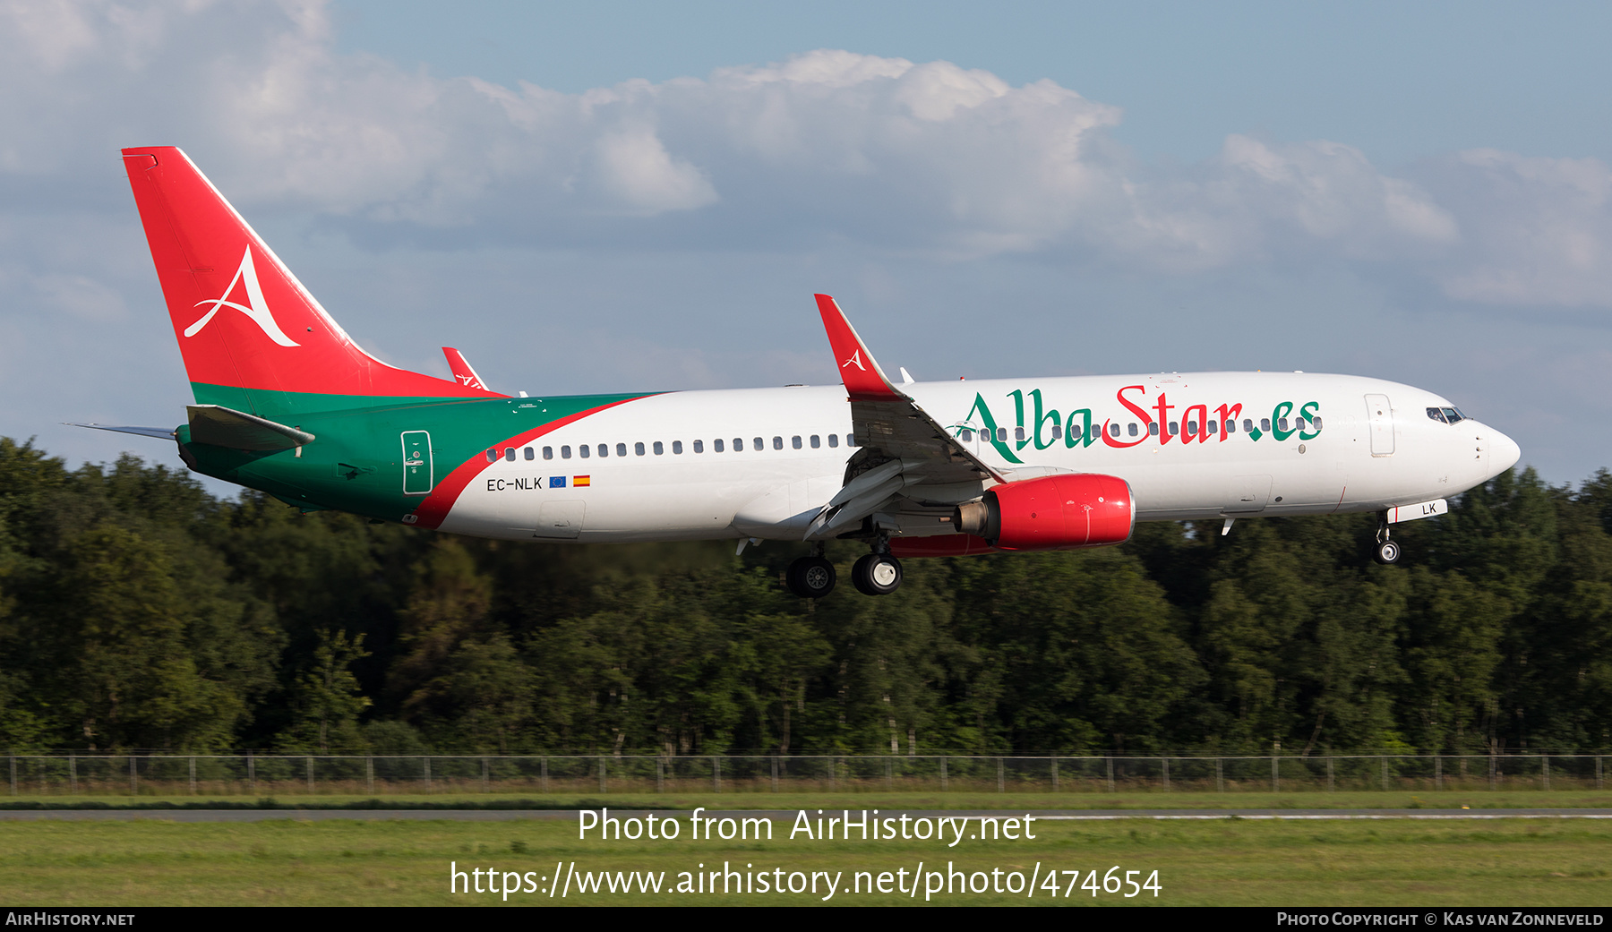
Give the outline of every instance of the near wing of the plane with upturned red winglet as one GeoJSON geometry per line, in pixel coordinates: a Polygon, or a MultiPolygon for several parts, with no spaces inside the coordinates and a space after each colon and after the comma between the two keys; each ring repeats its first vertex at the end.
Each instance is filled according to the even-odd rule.
{"type": "MultiPolygon", "coordinates": [[[[861,450],[846,464],[845,487],[811,522],[808,537],[843,530],[911,485],[1008,481],[890,382],[832,297],[817,295],[817,311],[840,364],[861,450]]],[[[917,490],[912,495],[920,497],[917,490]]]]}

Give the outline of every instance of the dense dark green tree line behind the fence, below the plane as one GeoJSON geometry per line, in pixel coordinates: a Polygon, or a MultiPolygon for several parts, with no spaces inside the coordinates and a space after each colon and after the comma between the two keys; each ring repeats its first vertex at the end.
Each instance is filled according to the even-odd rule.
{"type": "Polygon", "coordinates": [[[1373,530],[1143,524],[809,603],[800,547],[471,540],[0,439],[0,747],[1612,748],[1612,476],[1499,476],[1396,527],[1399,566],[1373,530]]]}

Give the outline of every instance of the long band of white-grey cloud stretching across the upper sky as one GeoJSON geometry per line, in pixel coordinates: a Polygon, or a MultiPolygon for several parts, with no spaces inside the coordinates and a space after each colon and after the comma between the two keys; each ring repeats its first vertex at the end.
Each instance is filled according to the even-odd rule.
{"type": "Polygon", "coordinates": [[[313,0],[10,2],[0,81],[13,206],[81,197],[118,145],[161,142],[248,214],[366,237],[850,240],[1167,274],[1348,260],[1465,302],[1612,306],[1599,161],[1469,152],[1394,177],[1348,145],[1230,135],[1159,169],[1111,139],[1117,108],[948,61],[819,50],[559,94],[337,53],[313,0]]]}

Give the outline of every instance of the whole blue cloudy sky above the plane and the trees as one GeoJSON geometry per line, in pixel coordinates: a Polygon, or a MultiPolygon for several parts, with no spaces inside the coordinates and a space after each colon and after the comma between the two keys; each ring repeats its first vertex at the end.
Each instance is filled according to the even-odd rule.
{"type": "Polygon", "coordinates": [[[181,145],[377,355],[496,389],[1378,376],[1612,464],[1606,5],[0,3],[0,434],[187,385],[181,145]]]}

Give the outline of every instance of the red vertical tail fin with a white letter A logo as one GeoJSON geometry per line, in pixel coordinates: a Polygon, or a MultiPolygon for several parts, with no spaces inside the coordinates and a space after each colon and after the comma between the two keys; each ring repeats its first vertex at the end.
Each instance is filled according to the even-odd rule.
{"type": "Polygon", "coordinates": [[[123,164],[198,402],[285,413],[355,395],[505,397],[358,348],[184,152],[126,148],[123,164]]]}

